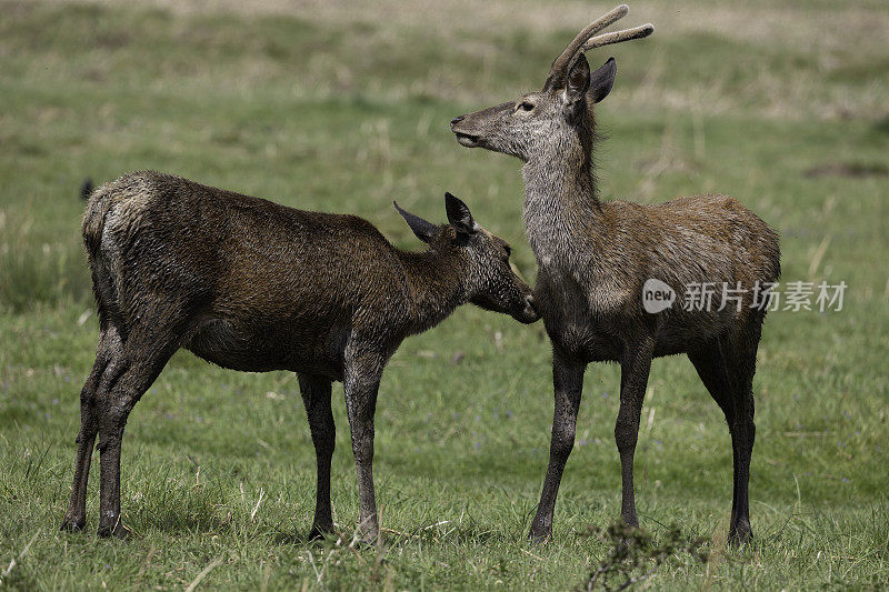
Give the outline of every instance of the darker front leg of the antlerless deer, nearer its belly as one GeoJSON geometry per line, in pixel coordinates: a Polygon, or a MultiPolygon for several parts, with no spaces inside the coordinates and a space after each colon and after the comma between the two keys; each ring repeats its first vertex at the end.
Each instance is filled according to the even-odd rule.
{"type": "Polygon", "coordinates": [[[309,417],[309,429],[314,444],[314,456],[318,464],[318,488],[316,492],[314,520],[309,531],[309,539],[320,539],[324,533],[333,532],[333,516],[330,508],[330,461],[337,428],[333,424],[333,412],[330,409],[330,380],[312,374],[299,373],[299,389],[306,414],[309,417]]]}

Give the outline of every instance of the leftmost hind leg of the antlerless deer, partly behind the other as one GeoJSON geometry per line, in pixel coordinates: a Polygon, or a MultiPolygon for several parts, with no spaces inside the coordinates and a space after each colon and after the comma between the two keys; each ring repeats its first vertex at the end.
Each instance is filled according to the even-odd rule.
{"type": "Polygon", "coordinates": [[[90,476],[90,461],[99,422],[96,413],[96,391],[110,361],[120,355],[120,335],[113,325],[106,325],[99,333],[96,361],[92,371],[80,391],[80,431],[77,434],[77,455],[74,458],[74,481],[71,499],[64,513],[60,530],[80,531],[87,524],[87,483],[90,476]]]}

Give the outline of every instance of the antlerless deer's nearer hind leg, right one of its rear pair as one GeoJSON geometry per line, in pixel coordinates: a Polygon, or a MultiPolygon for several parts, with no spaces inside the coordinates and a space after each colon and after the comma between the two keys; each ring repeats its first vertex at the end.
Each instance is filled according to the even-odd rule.
{"type": "MultiPolygon", "coordinates": [[[[157,321],[157,320],[152,320],[157,321]]],[[[130,411],[183,341],[181,327],[142,322],[131,330],[96,395],[99,423],[99,536],[127,535],[120,514],[120,449],[130,411]]]]}

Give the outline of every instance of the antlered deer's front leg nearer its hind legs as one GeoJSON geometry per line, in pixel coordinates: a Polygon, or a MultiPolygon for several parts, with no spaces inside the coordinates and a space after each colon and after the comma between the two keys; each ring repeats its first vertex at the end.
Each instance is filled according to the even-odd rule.
{"type": "Polygon", "coordinates": [[[636,515],[632,463],[636,442],[639,438],[639,417],[642,412],[642,400],[648,385],[653,348],[653,339],[629,344],[620,362],[620,410],[615,423],[615,441],[620,453],[622,483],[620,515],[630,526],[639,525],[639,519],[636,515]]]}

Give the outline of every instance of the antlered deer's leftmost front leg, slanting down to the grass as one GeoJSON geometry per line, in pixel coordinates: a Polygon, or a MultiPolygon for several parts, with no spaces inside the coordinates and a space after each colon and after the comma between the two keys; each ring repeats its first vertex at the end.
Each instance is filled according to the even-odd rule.
{"type": "Polygon", "coordinates": [[[583,390],[583,371],[587,364],[576,360],[556,348],[552,351],[552,384],[556,395],[556,409],[552,414],[552,439],[549,448],[549,465],[543,480],[540,503],[531,522],[528,538],[545,542],[552,536],[552,514],[556,509],[556,496],[562,471],[571,449],[575,445],[575,428],[580,397],[583,390]]]}

